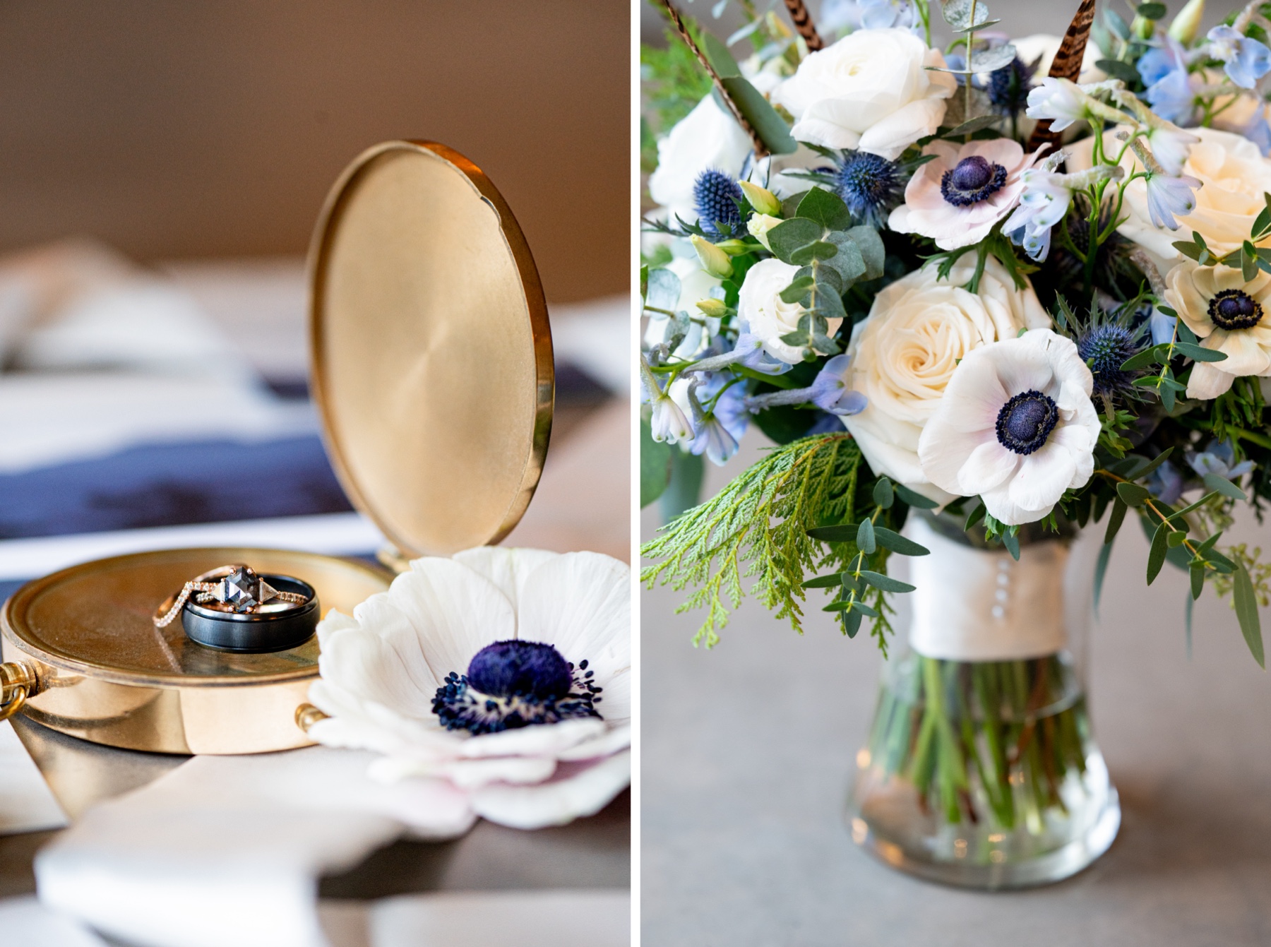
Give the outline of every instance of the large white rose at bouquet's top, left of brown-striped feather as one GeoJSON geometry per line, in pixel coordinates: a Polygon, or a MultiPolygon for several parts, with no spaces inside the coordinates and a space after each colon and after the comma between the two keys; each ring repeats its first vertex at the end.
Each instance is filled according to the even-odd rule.
{"type": "Polygon", "coordinates": [[[957,81],[928,69],[943,65],[907,29],[859,29],[810,53],[773,100],[796,117],[799,141],[895,159],[944,118],[957,81]]]}

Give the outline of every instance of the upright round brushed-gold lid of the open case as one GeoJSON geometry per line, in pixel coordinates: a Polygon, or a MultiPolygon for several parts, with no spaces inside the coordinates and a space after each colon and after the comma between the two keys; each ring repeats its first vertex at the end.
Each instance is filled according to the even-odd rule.
{"type": "Polygon", "coordinates": [[[525,236],[477,165],[364,151],[309,253],[313,393],[353,505],[403,554],[497,543],[543,470],[554,372],[525,236]]]}

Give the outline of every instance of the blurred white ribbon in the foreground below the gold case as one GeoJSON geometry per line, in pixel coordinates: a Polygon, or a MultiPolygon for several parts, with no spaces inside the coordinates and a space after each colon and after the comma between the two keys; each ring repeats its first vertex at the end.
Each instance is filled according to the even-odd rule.
{"type": "Polygon", "coordinates": [[[144,946],[322,947],[319,875],[402,833],[451,838],[475,819],[441,780],[372,782],[371,759],[325,747],[196,756],[44,848],[39,897],[144,946]]]}

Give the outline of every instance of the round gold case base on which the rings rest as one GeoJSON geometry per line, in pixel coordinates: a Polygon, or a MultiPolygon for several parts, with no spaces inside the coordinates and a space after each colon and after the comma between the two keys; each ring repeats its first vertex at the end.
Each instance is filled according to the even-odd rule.
{"type": "MultiPolygon", "coordinates": [[[[296,576],[324,608],[351,611],[391,576],[353,559],[277,549],[175,549],[74,566],[28,582],[0,611],[6,662],[28,666],[23,713],[64,733],[158,753],[264,753],[311,742],[296,727],[318,675],[318,641],[291,651],[205,648],[155,604],[192,575],[249,562],[296,576]]],[[[0,684],[17,671],[0,665],[0,684]]],[[[17,680],[17,678],[14,678],[17,680]]]]}

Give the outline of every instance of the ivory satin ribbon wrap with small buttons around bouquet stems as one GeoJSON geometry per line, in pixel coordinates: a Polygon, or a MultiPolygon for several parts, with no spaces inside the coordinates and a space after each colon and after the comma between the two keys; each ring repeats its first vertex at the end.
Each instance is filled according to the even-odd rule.
{"type": "Polygon", "coordinates": [[[1004,549],[976,549],[911,516],[905,533],[932,550],[909,558],[909,643],[949,661],[1013,661],[1061,651],[1092,608],[1093,569],[1080,539],[1036,543],[1019,562],[1004,549]],[[1080,547],[1079,549],[1077,547],[1080,547]],[[1091,575],[1085,575],[1089,572],[1091,575]]]}

